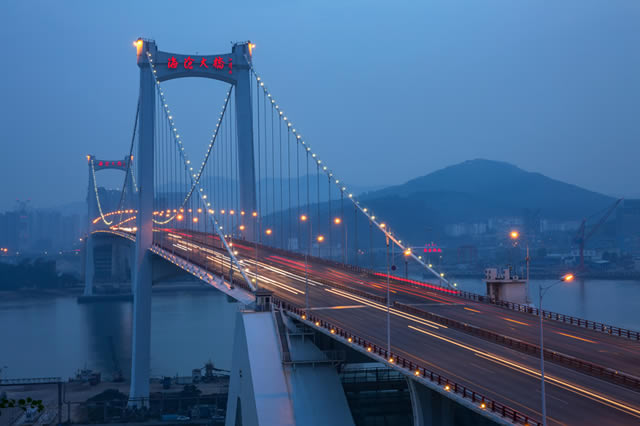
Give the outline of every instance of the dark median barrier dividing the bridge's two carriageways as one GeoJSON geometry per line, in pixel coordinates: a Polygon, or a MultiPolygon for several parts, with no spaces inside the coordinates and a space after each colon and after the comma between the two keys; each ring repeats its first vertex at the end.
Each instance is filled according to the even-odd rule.
{"type": "MultiPolygon", "coordinates": [[[[420,308],[416,308],[414,306],[405,305],[404,303],[394,302],[393,307],[398,309],[399,311],[403,311],[420,318],[428,319],[430,321],[446,325],[447,327],[464,331],[465,333],[481,337],[494,343],[502,344],[503,346],[508,346],[509,348],[515,349],[519,352],[540,356],[540,346],[538,345],[523,342],[522,340],[514,339],[512,337],[494,333],[493,331],[436,315],[431,312],[424,311],[420,308]]],[[[549,349],[544,350],[544,359],[562,365],[564,367],[569,367],[573,370],[587,373],[591,376],[595,376],[600,379],[604,379],[609,382],[628,387],[635,391],[640,391],[640,379],[629,374],[621,373],[611,368],[603,367],[601,365],[584,361],[579,358],[565,355],[561,352],[556,352],[549,349]]]]}

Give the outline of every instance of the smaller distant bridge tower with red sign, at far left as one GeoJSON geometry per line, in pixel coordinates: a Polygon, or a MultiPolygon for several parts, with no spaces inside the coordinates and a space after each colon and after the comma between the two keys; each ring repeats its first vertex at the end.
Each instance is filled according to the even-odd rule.
{"type": "MultiPolygon", "coordinates": [[[[84,278],[84,295],[93,295],[93,280],[95,275],[94,263],[94,238],[92,232],[96,229],[96,225],[102,220],[101,211],[103,207],[99,204],[100,197],[98,193],[98,185],[96,183],[96,173],[102,170],[120,170],[127,173],[127,163],[130,162],[129,156],[122,160],[107,161],[98,160],[93,155],[87,155],[87,163],[89,166],[89,183],[87,185],[87,238],[85,239],[85,278],[84,278]]],[[[127,179],[127,194],[131,194],[129,199],[133,197],[133,179],[127,179]]],[[[114,206],[111,206],[114,207],[114,206]]],[[[133,206],[122,206],[123,208],[133,208],[133,206]]],[[[110,210],[110,209],[108,209],[110,210]]]]}

